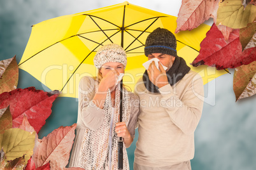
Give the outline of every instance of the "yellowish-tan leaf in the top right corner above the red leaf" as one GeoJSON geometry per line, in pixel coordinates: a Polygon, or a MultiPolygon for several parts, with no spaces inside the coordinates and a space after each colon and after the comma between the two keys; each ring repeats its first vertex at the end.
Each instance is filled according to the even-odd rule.
{"type": "Polygon", "coordinates": [[[253,22],[255,16],[256,6],[248,4],[244,10],[241,0],[225,0],[219,4],[216,24],[241,29],[253,22]]]}

